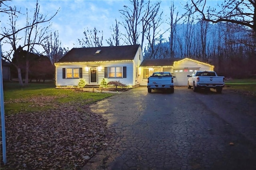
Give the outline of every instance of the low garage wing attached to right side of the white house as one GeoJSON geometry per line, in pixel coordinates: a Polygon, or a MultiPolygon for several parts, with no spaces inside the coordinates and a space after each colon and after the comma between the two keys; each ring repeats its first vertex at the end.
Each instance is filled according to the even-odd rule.
{"type": "Polygon", "coordinates": [[[169,71],[174,78],[174,85],[186,86],[188,84],[187,75],[194,71],[212,71],[213,65],[189,58],[170,59],[144,59],[140,65],[140,85],[147,85],[148,76],[156,71],[169,71]]]}

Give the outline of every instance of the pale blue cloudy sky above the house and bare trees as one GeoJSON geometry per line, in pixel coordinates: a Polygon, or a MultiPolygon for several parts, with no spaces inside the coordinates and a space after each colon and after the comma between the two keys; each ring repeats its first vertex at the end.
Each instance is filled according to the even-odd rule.
{"type": "MultiPolygon", "coordinates": [[[[151,0],[156,2],[156,0],[151,0]]],[[[162,0],[161,11],[163,11],[163,18],[167,19],[170,15],[170,4],[172,0],[162,0]],[[167,16],[167,17],[165,17],[167,16]]],[[[184,12],[182,4],[186,4],[187,0],[174,0],[176,11],[179,14],[184,12]]],[[[220,1],[215,1],[220,2],[220,1]]],[[[21,9],[25,14],[26,8],[34,12],[36,0],[12,0],[9,2],[12,6],[21,9]]],[[[62,47],[78,47],[78,38],[84,37],[84,30],[96,27],[97,30],[103,31],[103,45],[108,46],[106,39],[110,38],[110,27],[115,24],[115,19],[121,21],[121,14],[118,10],[122,10],[124,5],[129,6],[128,0],[39,0],[40,13],[52,16],[59,8],[58,14],[47,23],[52,24],[52,30],[58,30],[59,40],[62,47]],[[74,45],[75,44],[75,45],[74,45]]],[[[1,14],[1,27],[5,26],[8,21],[6,14],[1,14]]],[[[26,16],[20,15],[17,21],[18,26],[24,26],[26,16]]],[[[164,31],[167,25],[162,26],[164,31]]],[[[120,26],[122,31],[122,26],[120,26]]],[[[3,42],[2,42],[3,43],[3,42]]],[[[3,44],[3,51],[5,46],[3,44]]]]}

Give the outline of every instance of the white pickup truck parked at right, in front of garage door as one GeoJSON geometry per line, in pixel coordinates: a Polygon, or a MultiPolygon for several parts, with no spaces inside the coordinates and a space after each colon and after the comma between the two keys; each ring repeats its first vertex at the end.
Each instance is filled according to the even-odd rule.
{"type": "Polygon", "coordinates": [[[193,87],[193,91],[200,88],[216,89],[217,93],[222,92],[225,86],[223,76],[218,76],[215,71],[195,71],[192,75],[188,75],[188,89],[193,87]]]}

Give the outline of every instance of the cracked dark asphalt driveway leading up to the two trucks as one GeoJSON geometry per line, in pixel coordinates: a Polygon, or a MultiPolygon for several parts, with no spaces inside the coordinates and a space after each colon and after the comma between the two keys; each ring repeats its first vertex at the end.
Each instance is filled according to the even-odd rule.
{"type": "Polygon", "coordinates": [[[88,170],[253,170],[256,98],[224,89],[138,87],[91,106],[116,135],[88,170]]]}

